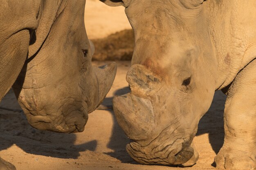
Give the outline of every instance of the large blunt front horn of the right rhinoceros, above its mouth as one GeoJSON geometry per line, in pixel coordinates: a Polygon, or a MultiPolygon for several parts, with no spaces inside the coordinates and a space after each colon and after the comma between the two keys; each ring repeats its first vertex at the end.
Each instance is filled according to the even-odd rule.
{"type": "Polygon", "coordinates": [[[115,96],[113,109],[119,126],[132,140],[148,139],[154,128],[155,113],[149,99],[125,94],[115,96]]]}

